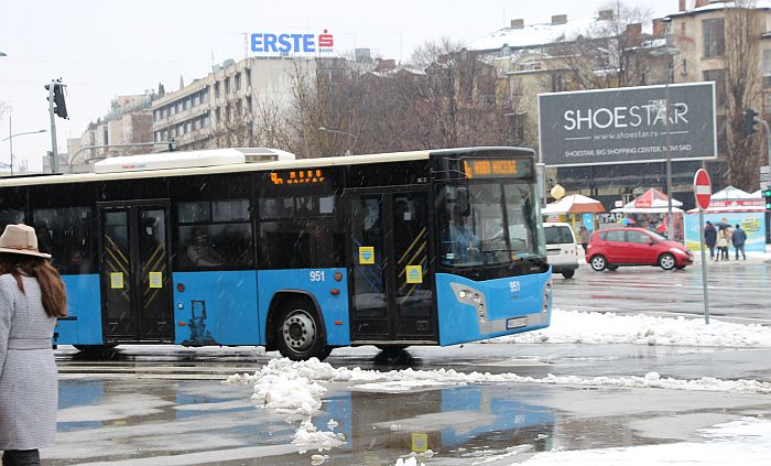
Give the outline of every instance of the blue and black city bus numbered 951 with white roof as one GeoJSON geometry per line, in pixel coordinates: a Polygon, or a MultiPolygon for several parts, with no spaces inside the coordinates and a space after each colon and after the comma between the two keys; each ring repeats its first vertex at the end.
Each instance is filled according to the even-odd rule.
{"type": "Polygon", "coordinates": [[[551,269],[534,152],[295,160],[271,149],[117,156],[0,180],[67,288],[54,344],[455,345],[543,328],[551,269]]]}

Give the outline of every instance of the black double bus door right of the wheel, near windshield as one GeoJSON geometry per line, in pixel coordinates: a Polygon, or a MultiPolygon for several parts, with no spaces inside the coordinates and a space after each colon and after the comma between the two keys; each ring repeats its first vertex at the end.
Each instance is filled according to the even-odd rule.
{"type": "Polygon", "coordinates": [[[428,192],[355,189],[345,197],[351,340],[436,343],[428,192]]]}

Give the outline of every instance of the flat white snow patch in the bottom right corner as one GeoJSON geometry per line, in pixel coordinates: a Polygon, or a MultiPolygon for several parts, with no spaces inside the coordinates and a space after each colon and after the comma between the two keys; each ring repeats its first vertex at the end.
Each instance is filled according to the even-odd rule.
{"type": "Polygon", "coordinates": [[[524,465],[768,465],[771,458],[771,421],[745,418],[699,431],[709,443],[681,442],[664,445],[554,451],[539,453],[524,465]]]}

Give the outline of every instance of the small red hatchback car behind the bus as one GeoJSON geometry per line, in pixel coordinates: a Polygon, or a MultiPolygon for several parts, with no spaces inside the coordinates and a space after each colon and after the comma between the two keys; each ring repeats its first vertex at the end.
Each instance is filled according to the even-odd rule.
{"type": "Polygon", "coordinates": [[[586,262],[597,272],[616,270],[620,265],[680,270],[693,263],[693,253],[683,243],[644,228],[609,228],[591,235],[586,262]]]}

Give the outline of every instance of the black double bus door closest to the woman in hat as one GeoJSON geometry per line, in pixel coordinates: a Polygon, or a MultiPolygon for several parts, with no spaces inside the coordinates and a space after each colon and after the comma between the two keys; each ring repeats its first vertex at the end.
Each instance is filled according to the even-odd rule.
{"type": "Polygon", "coordinates": [[[169,203],[99,206],[105,343],[174,340],[169,203]]]}

